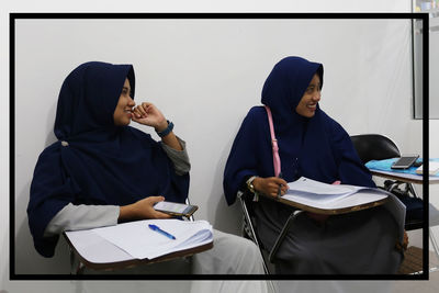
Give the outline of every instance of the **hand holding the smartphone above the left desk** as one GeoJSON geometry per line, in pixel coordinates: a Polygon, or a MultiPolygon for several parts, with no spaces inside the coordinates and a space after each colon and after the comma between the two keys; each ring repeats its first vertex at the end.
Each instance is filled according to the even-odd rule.
{"type": "Polygon", "coordinates": [[[147,218],[170,218],[171,215],[154,210],[154,204],[165,201],[164,196],[148,196],[135,203],[120,206],[119,222],[147,218]]]}

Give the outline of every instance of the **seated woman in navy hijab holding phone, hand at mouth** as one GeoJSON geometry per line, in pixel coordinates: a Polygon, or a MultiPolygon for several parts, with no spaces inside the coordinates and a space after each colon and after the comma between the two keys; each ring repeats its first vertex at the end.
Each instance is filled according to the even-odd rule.
{"type": "MultiPolygon", "coordinates": [[[[86,63],[63,83],[55,120],[59,140],[40,155],[27,206],[34,246],[42,256],[54,255],[64,230],[167,218],[153,205],[165,199],[183,203],[188,198],[185,143],[154,104],[135,106],[134,92],[131,65],[86,63]],[[132,120],[154,127],[161,142],[128,126],[132,120]]],[[[263,273],[255,244],[215,229],[213,235],[214,248],[193,256],[191,262],[177,259],[161,270],[155,264],[131,272],[263,273]]],[[[262,282],[246,288],[267,289],[262,282]]]]}

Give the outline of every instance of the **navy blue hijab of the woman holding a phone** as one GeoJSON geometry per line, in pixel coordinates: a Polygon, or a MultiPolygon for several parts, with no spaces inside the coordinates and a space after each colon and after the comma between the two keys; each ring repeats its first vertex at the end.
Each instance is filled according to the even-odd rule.
{"type": "Polygon", "coordinates": [[[133,66],[86,63],[63,83],[55,119],[58,142],[40,155],[31,184],[29,225],[36,250],[52,257],[58,236],[43,237],[68,203],[126,205],[150,195],[184,202],[189,174],[177,176],[161,146],[113,113],[133,66]]]}

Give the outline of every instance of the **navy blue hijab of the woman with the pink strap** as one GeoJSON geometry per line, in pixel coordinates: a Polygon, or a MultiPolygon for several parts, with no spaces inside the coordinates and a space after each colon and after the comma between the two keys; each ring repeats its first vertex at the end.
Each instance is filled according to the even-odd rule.
{"type": "MultiPolygon", "coordinates": [[[[281,172],[286,182],[304,176],[326,183],[375,187],[361,164],[346,131],[317,105],[311,119],[296,113],[313,76],[323,86],[323,65],[300,57],[280,60],[262,89],[262,104],[271,109],[279,144],[281,172]]],[[[228,204],[251,176],[273,177],[273,156],[267,112],[254,106],[245,117],[232,146],[224,171],[224,192],[228,204]]]]}

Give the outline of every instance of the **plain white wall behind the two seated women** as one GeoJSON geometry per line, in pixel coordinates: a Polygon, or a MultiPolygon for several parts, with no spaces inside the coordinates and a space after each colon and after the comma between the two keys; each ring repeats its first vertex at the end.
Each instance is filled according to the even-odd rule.
{"type": "MultiPolygon", "coordinates": [[[[410,11],[409,1],[349,3],[352,2],[360,5],[353,9],[341,1],[331,1],[330,5],[314,1],[320,9],[309,10],[303,3],[273,4],[271,8],[256,3],[251,11],[410,11]]],[[[79,10],[41,5],[42,1],[38,1],[38,8],[32,8],[32,2],[16,3],[5,4],[8,8],[2,10],[3,52],[9,50],[5,37],[8,12],[104,11],[90,3],[87,9],[79,10]]],[[[212,7],[206,9],[194,3],[192,9],[190,5],[183,9],[178,3],[140,11],[249,11],[244,5],[227,8],[211,3],[212,7]]],[[[114,5],[114,11],[123,9],[122,5],[116,8],[114,5]]],[[[133,10],[125,7],[123,11],[133,10]]],[[[175,132],[188,143],[192,162],[190,198],[200,206],[196,218],[205,218],[224,232],[237,234],[240,224],[238,205],[227,207],[222,192],[225,160],[243,117],[251,105],[259,104],[267,75],[284,56],[297,55],[324,64],[320,105],[348,133],[381,133],[391,136],[403,153],[421,151],[421,121],[412,120],[412,43],[406,20],[19,20],[15,30],[16,273],[68,272],[65,244],[58,246],[53,259],[44,259],[35,252],[25,209],[36,158],[55,140],[53,123],[60,84],[68,72],[83,61],[134,65],[136,101],[156,103],[176,124],[175,132]]],[[[4,65],[1,68],[1,109],[4,111],[1,133],[8,137],[5,65],[9,59],[5,57],[9,55],[1,56],[4,65]]],[[[432,135],[438,127],[437,121],[430,122],[430,157],[439,157],[439,142],[432,135]]],[[[2,161],[7,162],[8,139],[2,139],[1,144],[4,149],[2,161]]],[[[8,187],[8,164],[1,171],[1,185],[8,187]]],[[[4,188],[1,196],[0,245],[4,249],[1,249],[0,290],[86,290],[83,286],[88,282],[8,281],[7,191],[4,188]]],[[[430,193],[435,191],[437,189],[430,193]]],[[[414,235],[410,240],[420,245],[419,235],[414,235]]],[[[150,285],[151,282],[147,288],[150,285]]],[[[162,289],[166,292],[166,288],[162,289]]],[[[170,284],[167,289],[171,289],[170,284]]]]}

